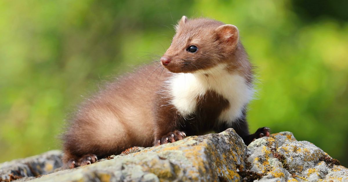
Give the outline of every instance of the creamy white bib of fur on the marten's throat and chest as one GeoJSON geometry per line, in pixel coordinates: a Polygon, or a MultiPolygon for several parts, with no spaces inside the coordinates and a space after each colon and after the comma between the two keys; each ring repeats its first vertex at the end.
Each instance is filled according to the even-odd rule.
{"type": "Polygon", "coordinates": [[[225,67],[226,65],[218,65],[195,73],[174,74],[168,82],[173,97],[171,104],[185,117],[196,112],[197,98],[202,98],[208,90],[213,90],[230,104],[220,114],[219,122],[234,122],[252,99],[253,89],[243,76],[231,74],[225,67]]]}

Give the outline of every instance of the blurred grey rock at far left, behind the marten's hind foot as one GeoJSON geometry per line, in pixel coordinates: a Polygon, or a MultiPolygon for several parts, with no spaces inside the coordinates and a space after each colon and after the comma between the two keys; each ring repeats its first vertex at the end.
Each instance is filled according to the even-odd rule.
{"type": "Polygon", "coordinates": [[[41,155],[2,163],[0,164],[0,181],[12,181],[52,173],[62,167],[62,156],[61,151],[52,150],[41,155]]]}

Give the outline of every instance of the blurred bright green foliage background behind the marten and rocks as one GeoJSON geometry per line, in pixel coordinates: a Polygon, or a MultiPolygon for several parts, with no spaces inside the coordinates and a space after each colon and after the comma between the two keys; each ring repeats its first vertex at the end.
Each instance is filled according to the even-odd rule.
{"type": "Polygon", "coordinates": [[[348,166],[348,1],[0,1],[0,162],[59,149],[98,83],[162,55],[182,15],[234,24],[257,66],[251,131],[291,131],[348,166]]]}

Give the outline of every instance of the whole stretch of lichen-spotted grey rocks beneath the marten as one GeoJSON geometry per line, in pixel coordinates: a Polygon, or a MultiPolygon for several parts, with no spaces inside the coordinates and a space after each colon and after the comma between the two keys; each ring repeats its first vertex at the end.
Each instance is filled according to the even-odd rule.
{"type": "Polygon", "coordinates": [[[61,156],[49,151],[0,164],[0,181],[348,181],[348,169],[338,160],[310,142],[296,141],[290,132],[246,146],[228,129],[159,147],[132,148],[66,170],[60,168],[61,156]]]}

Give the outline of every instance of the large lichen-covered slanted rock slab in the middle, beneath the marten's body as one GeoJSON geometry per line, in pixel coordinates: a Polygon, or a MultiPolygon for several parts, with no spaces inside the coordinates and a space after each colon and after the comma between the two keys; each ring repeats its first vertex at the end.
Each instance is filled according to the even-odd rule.
{"type": "Polygon", "coordinates": [[[112,156],[77,169],[42,176],[37,181],[236,181],[246,146],[228,129],[220,134],[192,136],[174,143],[112,156]]]}

